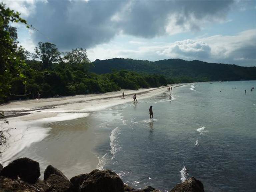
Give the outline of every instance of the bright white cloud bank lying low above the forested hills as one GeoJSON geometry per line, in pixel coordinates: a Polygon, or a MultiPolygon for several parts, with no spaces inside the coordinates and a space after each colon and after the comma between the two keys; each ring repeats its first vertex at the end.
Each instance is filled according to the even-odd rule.
{"type": "Polygon", "coordinates": [[[123,49],[123,44],[113,45],[111,42],[103,46],[88,49],[89,58],[108,59],[114,57],[147,59],[151,61],[181,58],[185,60],[202,60],[214,63],[255,66],[256,36],[255,29],[243,31],[235,35],[215,35],[198,39],[186,39],[173,43],[154,43],[134,45],[123,49]]]}

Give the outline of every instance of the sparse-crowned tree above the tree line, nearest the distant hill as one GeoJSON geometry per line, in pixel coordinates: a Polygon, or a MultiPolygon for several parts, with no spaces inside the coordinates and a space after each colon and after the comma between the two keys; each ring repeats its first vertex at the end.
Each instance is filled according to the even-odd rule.
{"type": "Polygon", "coordinates": [[[71,52],[66,53],[64,59],[74,70],[81,70],[86,73],[92,65],[87,57],[86,49],[83,48],[72,49],[71,52]]]}

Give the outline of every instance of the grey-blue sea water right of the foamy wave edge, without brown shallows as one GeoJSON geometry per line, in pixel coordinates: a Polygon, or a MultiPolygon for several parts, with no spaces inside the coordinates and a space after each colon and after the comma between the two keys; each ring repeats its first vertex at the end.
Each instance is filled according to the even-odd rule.
{"type": "Polygon", "coordinates": [[[208,192],[255,191],[253,86],[256,81],[194,83],[109,109],[119,119],[105,124],[112,131],[95,149],[98,168],[135,188],[168,191],[193,176],[208,192]]]}

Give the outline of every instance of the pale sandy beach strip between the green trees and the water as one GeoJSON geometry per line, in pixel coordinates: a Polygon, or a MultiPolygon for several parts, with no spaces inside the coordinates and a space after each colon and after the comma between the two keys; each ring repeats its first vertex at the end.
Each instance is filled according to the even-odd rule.
{"type": "MultiPolygon", "coordinates": [[[[133,94],[136,93],[138,102],[140,99],[151,97],[167,91],[166,87],[180,86],[182,84],[168,85],[159,88],[120,90],[105,94],[76,95],[59,98],[42,98],[40,100],[12,101],[0,106],[5,111],[9,124],[1,122],[1,129],[8,137],[7,146],[1,150],[1,163],[6,166],[13,158],[20,157],[23,149],[28,148],[32,143],[42,141],[50,133],[49,123],[66,121],[87,117],[90,112],[99,111],[114,105],[133,101],[133,94]],[[122,98],[122,93],[125,98],[122,98]],[[11,115],[10,115],[11,114],[11,115]],[[14,114],[14,115],[13,115],[14,114]],[[8,115],[10,115],[8,117],[8,115]]],[[[43,94],[42,94],[43,95],[43,94]]],[[[91,130],[86,132],[90,138],[91,130]]],[[[93,143],[86,143],[85,152],[90,153],[93,143]]],[[[22,155],[21,155],[22,156],[22,155]]],[[[93,154],[88,158],[86,170],[95,169],[98,159],[93,154]]],[[[45,162],[45,165],[48,162],[45,162]]]]}

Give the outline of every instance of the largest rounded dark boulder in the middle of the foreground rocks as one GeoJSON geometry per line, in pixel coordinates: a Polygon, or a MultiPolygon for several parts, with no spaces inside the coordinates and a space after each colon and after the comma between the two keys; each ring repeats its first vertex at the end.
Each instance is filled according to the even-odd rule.
{"type": "Polygon", "coordinates": [[[95,169],[88,174],[79,192],[124,192],[124,184],[116,173],[95,169]]]}

